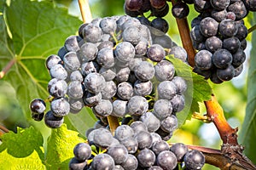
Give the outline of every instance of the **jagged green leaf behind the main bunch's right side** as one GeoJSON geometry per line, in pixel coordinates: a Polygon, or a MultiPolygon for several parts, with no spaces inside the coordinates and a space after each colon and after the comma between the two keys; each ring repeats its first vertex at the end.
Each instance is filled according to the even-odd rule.
{"type": "Polygon", "coordinates": [[[199,112],[199,102],[211,99],[212,88],[204,77],[197,75],[192,68],[184,64],[181,59],[176,59],[169,55],[168,60],[175,66],[177,76],[183,77],[188,88],[185,92],[185,108],[177,113],[179,126],[190,119],[193,112],[199,112]]]}

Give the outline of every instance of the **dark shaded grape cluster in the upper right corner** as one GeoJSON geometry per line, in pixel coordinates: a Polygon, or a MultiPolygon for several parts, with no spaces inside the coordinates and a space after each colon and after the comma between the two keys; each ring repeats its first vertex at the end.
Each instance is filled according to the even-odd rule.
{"type": "MultiPolygon", "coordinates": [[[[252,1],[195,0],[200,14],[191,22],[190,36],[195,54],[195,72],[214,83],[229,81],[241,74],[246,59],[247,27],[244,26],[252,1]]],[[[254,7],[255,10],[255,7],[254,7]]]]}

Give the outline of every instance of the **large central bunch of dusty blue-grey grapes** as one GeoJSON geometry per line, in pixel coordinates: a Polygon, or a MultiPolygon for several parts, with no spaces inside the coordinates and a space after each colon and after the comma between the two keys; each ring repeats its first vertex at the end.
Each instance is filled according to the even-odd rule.
{"type": "Polygon", "coordinates": [[[102,122],[108,123],[108,116],[129,116],[145,122],[150,133],[170,139],[177,128],[176,114],[185,105],[187,84],[175,75],[166,54],[183,61],[187,54],[178,46],[163,48],[155,39],[147,26],[128,15],[81,25],[79,36],[67,37],[58,54],[46,59],[50,110],[44,116],[44,100],[35,99],[32,117],[44,118],[55,128],[69,112],[87,106],[102,122]]]}

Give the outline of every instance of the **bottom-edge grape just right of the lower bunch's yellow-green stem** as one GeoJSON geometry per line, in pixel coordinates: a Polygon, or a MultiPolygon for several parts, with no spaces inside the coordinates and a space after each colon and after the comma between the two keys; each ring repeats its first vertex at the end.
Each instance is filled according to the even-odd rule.
{"type": "Polygon", "coordinates": [[[108,154],[99,154],[93,158],[91,167],[97,170],[113,169],[114,161],[108,154]]]}

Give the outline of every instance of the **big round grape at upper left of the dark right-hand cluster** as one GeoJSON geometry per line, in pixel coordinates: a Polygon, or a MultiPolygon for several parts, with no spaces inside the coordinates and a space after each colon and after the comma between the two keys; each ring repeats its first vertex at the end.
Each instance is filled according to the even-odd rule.
{"type": "Polygon", "coordinates": [[[218,22],[211,17],[207,17],[201,20],[200,31],[205,37],[215,36],[218,32],[218,22]]]}

